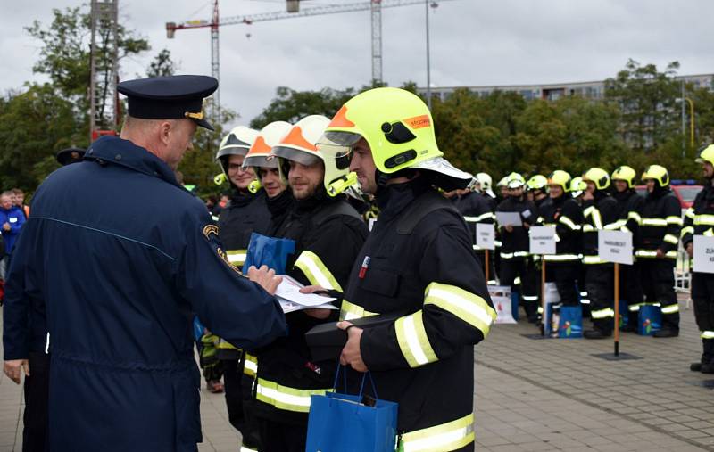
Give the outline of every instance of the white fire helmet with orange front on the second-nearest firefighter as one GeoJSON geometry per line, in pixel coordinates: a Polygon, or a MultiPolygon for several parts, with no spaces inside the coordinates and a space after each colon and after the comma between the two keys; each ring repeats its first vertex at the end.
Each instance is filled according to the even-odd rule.
{"type": "Polygon", "coordinates": [[[303,165],[313,165],[322,160],[325,166],[323,184],[330,196],[342,193],[350,185],[357,183],[357,175],[350,174],[349,148],[338,145],[325,136],[329,119],[321,115],[311,115],[300,119],[278,145],[270,152],[271,158],[278,158],[280,177],[287,179],[285,160],[293,160],[303,165]],[[347,161],[346,165],[340,162],[347,161]]]}

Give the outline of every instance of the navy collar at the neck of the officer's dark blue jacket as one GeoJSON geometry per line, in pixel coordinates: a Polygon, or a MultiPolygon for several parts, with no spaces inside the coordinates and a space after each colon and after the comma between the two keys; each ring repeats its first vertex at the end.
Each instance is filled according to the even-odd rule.
{"type": "Polygon", "coordinates": [[[129,168],[181,187],[173,170],[166,162],[156,157],[153,153],[146,151],[145,148],[119,136],[102,136],[96,140],[87,149],[84,160],[95,161],[100,165],[117,165],[129,168]]]}

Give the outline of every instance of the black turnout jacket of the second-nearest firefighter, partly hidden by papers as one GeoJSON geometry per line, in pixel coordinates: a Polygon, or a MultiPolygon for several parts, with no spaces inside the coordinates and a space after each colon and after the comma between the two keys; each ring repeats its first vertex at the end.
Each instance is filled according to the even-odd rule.
{"type": "MultiPolygon", "coordinates": [[[[320,190],[309,200],[295,201],[295,209],[278,231],[279,237],[295,240],[287,275],[302,284],[344,291],[367,234],[360,215],[342,197],[328,198],[320,190]]],[[[334,313],[331,320],[336,320],[339,311],[334,313]]],[[[336,363],[312,362],[304,334],[330,319],[320,320],[303,311],[289,313],[286,319],[287,337],[254,353],[258,367],[255,413],[279,423],[306,425],[310,397],[332,388],[336,363]]]]}

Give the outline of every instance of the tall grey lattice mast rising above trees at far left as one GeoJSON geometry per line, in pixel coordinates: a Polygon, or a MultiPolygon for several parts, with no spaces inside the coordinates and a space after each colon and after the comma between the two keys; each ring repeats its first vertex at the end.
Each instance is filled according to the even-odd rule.
{"type": "Polygon", "coordinates": [[[91,3],[90,142],[102,135],[116,134],[119,124],[118,4],[119,0],[92,0],[91,3]]]}

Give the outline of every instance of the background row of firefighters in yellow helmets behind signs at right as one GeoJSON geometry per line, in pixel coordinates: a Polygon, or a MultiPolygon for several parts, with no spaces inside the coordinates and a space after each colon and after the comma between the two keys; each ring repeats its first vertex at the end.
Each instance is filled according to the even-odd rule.
{"type": "MultiPolygon", "coordinates": [[[[475,238],[478,223],[495,224],[495,259],[484,259],[485,250],[474,244],[486,261],[486,275],[498,275],[501,285],[519,292],[530,322],[541,315],[541,259],[546,281],[556,285],[562,306],[582,305],[589,310],[593,329],[587,339],[603,339],[614,328],[614,268],[598,255],[598,232],[619,230],[633,234],[634,265],[619,267],[619,299],[627,302],[625,331],[635,331],[637,315],[645,304],[660,307],[661,329],[654,337],[679,334],[679,305],[675,292],[677,250],[681,241],[691,258],[695,234],[714,235],[714,145],[702,148],[697,161],[708,183],[685,210],[669,186],[667,168],[647,167],[641,177],[644,196],[635,191],[634,168],[620,166],[609,174],[590,168],[582,177],[562,170],[549,177],[535,175],[526,180],[518,173],[503,177],[491,189],[491,177],[477,175],[472,190],[447,193],[466,219],[475,238]],[[499,212],[517,212],[520,226],[499,224],[499,212]],[[555,228],[556,252],[539,256],[529,252],[531,226],[555,228]],[[493,262],[493,264],[492,264],[493,262]]],[[[495,284],[491,280],[489,284],[495,284]]],[[[693,371],[714,373],[714,275],[693,273],[692,298],[702,338],[700,362],[693,371]]]]}

